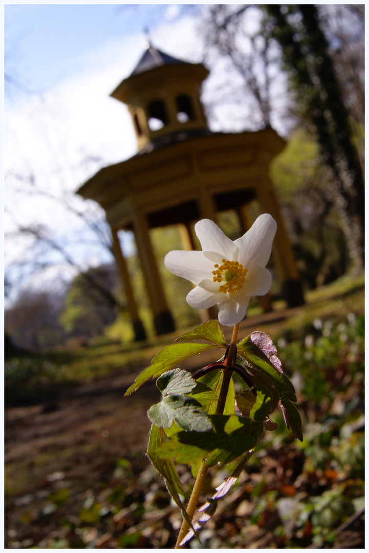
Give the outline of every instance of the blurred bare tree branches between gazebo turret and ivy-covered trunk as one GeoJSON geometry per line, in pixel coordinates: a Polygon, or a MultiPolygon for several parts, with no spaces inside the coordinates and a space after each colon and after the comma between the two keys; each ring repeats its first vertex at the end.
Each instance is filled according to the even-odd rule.
{"type": "Polygon", "coordinates": [[[270,18],[255,5],[215,4],[204,7],[198,28],[205,64],[224,72],[222,85],[207,101],[210,119],[220,106],[233,106],[232,130],[276,127],[283,118],[286,131],[291,118],[288,98],[281,93],[286,85],[270,18]]]}

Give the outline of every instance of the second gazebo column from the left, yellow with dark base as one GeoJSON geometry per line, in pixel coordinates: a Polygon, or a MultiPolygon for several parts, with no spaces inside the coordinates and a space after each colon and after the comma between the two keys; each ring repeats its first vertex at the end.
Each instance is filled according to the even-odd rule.
{"type": "Polygon", "coordinates": [[[136,211],[133,216],[133,224],[141,268],[144,273],[151,310],[154,314],[155,331],[157,335],[173,332],[175,325],[172,314],[168,310],[159,270],[157,269],[146,216],[136,211]]]}

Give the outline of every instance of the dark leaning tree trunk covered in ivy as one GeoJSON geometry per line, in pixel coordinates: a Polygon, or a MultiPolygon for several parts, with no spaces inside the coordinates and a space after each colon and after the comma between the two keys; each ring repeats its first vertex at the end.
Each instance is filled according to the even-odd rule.
{"type": "Polygon", "coordinates": [[[346,219],[350,246],[356,257],[363,258],[363,174],[318,9],[313,4],[270,4],[265,9],[275,23],[273,36],[281,45],[296,101],[313,123],[324,161],[333,171],[336,201],[346,219]]]}

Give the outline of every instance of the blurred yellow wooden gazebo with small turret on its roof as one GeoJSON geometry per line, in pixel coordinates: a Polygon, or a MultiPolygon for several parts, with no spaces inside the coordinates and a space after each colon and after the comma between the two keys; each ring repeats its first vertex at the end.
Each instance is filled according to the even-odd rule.
{"type": "Polygon", "coordinates": [[[247,204],[259,202],[277,222],[273,258],[288,306],[302,305],[296,265],[269,176],[284,140],[272,129],[243,133],[210,132],[200,100],[208,70],[149,46],[133,73],[112,92],[128,105],[138,154],[102,168],[78,190],[105,210],[115,258],[122,275],[136,339],[145,337],[117,232],[134,232],[157,334],[174,330],[150,229],[181,225],[183,248],[193,249],[192,223],[217,221],[233,208],[244,231],[247,204]]]}

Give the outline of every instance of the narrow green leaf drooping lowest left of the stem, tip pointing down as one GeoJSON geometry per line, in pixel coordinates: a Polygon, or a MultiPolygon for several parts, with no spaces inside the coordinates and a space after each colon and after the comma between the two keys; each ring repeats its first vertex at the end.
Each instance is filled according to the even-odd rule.
{"type": "Polygon", "coordinates": [[[192,520],[189,518],[186,508],[184,507],[180,495],[184,496],[180,477],[176,471],[176,467],[170,459],[162,459],[158,457],[155,450],[163,443],[164,430],[158,428],[155,425],[151,426],[149,435],[149,445],[147,446],[147,457],[149,457],[152,465],[156,468],[157,472],[164,478],[165,485],[171,498],[176,503],[177,507],[181,509],[184,519],[187,524],[193,529],[192,520]]]}

